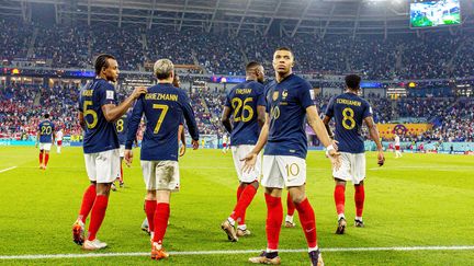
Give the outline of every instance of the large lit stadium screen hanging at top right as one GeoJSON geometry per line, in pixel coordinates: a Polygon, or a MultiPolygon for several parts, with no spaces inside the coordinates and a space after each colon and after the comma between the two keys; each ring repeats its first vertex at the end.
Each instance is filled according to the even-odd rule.
{"type": "Polygon", "coordinates": [[[411,0],[410,27],[461,24],[460,0],[411,0]]]}

